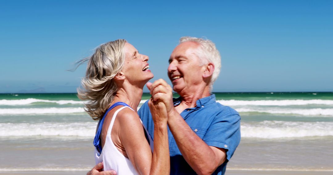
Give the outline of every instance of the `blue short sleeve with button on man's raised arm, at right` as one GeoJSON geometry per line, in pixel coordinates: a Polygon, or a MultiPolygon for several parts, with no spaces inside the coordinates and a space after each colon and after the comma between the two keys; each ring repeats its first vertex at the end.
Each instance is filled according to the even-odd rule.
{"type": "Polygon", "coordinates": [[[234,112],[219,114],[208,128],[203,141],[208,146],[226,149],[227,160],[230,160],[240,142],[240,116],[234,112]]]}

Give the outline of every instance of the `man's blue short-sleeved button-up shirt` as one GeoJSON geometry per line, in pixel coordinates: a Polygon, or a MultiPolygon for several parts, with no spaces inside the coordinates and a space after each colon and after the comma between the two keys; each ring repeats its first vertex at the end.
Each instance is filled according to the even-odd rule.
{"type": "MultiPolygon", "coordinates": [[[[180,98],[173,99],[176,106],[180,98]]],[[[138,111],[139,116],[154,138],[154,122],[150,113],[148,101],[138,111]]],[[[180,113],[192,131],[198,135],[208,146],[224,148],[227,161],[217,167],[213,174],[222,175],[226,164],[240,142],[240,116],[234,109],[217,103],[215,95],[201,98],[196,101],[196,107],[187,108],[180,113]]],[[[196,174],[188,165],[168,129],[170,148],[170,174],[196,174]]],[[[195,145],[193,145],[195,147],[195,145]]]]}

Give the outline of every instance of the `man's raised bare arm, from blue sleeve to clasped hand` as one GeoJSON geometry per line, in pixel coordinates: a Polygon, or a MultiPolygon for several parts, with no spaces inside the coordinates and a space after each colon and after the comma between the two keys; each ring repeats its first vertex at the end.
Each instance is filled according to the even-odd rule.
{"type": "Polygon", "coordinates": [[[190,129],[174,109],[172,88],[163,79],[149,84],[149,89],[153,100],[165,103],[169,129],[186,162],[197,174],[212,174],[226,160],[225,149],[208,146],[190,129]]]}

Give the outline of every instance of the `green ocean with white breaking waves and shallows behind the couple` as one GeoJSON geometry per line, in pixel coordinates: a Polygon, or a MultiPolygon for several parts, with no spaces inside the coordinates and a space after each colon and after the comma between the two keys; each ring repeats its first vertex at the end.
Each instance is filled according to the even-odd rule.
{"type": "MultiPolygon", "coordinates": [[[[333,92],[215,95],[241,116],[227,172],[333,171],[333,92]]],[[[96,125],[75,93],[0,94],[0,173],[85,174],[95,165],[96,125]]]]}

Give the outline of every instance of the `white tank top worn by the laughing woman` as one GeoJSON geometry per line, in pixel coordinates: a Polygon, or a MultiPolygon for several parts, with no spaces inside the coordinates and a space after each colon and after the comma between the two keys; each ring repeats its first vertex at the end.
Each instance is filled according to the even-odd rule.
{"type": "MultiPolygon", "coordinates": [[[[112,127],[115,122],[116,116],[119,111],[121,111],[122,109],[124,109],[126,107],[128,107],[128,106],[121,107],[113,114],[102,152],[100,153],[95,147],[96,164],[103,161],[103,164],[104,164],[103,170],[104,171],[115,170],[117,172],[117,175],[138,174],[138,172],[135,170],[131,160],[129,158],[125,157],[117,149],[117,147],[115,146],[115,144],[113,144],[112,139],[111,139],[111,131],[112,131],[112,127]]],[[[128,108],[130,108],[130,107],[128,107],[128,108]]],[[[132,109],[132,108],[130,108],[130,109],[132,109]]],[[[141,119],[140,119],[140,121],[141,121],[141,119]]],[[[142,123],[142,121],[141,121],[141,123],[142,123]]],[[[145,128],[145,126],[144,126],[144,128],[145,128]]],[[[149,135],[146,128],[145,128],[145,130],[147,132],[147,135],[149,138],[149,143],[150,143],[151,149],[153,151],[153,149],[154,149],[153,140],[152,140],[151,136],[149,135]]]]}

